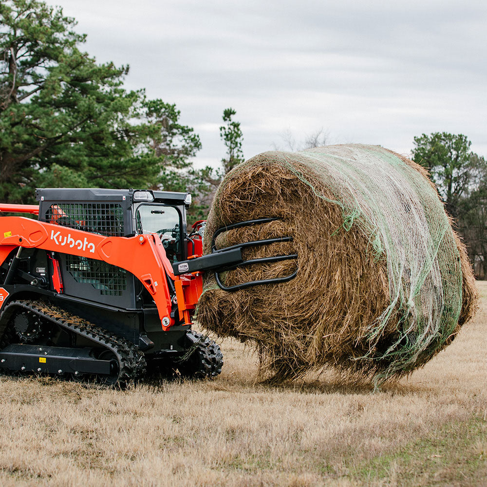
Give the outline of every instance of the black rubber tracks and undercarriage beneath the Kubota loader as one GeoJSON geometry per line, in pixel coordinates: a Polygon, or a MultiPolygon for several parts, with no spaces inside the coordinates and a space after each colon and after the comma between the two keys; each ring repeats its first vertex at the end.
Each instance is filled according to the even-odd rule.
{"type": "Polygon", "coordinates": [[[10,301],[0,322],[0,371],[56,375],[124,386],[148,372],[212,377],[221,372],[220,347],[189,331],[184,355],[145,356],[124,338],[43,300],[10,301]],[[160,366],[161,365],[161,366],[160,366]]]}

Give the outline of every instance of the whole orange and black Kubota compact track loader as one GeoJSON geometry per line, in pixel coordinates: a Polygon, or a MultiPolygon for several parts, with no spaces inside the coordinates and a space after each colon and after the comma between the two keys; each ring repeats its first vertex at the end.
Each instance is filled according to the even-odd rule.
{"type": "Polygon", "coordinates": [[[202,256],[186,232],[189,193],[38,189],[39,206],[0,205],[0,371],[125,383],[149,369],[220,374],[220,347],[191,330],[202,256]],[[32,213],[38,219],[4,216],[32,213]]]}

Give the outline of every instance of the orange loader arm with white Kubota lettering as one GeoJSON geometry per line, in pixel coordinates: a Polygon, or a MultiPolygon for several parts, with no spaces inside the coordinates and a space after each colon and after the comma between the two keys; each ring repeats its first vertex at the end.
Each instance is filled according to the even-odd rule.
{"type": "MultiPolygon", "coordinates": [[[[174,276],[169,259],[157,234],[143,234],[135,237],[106,237],[95,233],[39,222],[23,217],[1,217],[0,257],[14,247],[39,248],[64,254],[77,255],[108,262],[131,272],[149,291],[156,303],[163,330],[174,325],[171,318],[171,299],[168,281],[175,281],[178,294],[180,317],[189,324],[188,309],[194,308],[198,296],[188,296],[186,303],[182,285],[192,281],[192,276],[174,276]],[[196,298],[196,299],[195,299],[196,298]],[[182,301],[182,302],[180,302],[182,301]],[[194,301],[194,302],[192,302],[194,301]]],[[[1,262],[0,262],[1,263],[1,262]]],[[[201,276],[196,276],[196,281],[201,276]]],[[[195,287],[197,282],[193,283],[195,287]]],[[[200,284],[201,286],[201,284],[200,284]]],[[[197,287],[200,287],[197,286],[197,287]]],[[[186,287],[186,286],[185,286],[186,287]]],[[[198,289],[199,290],[199,289],[198,289]]]]}

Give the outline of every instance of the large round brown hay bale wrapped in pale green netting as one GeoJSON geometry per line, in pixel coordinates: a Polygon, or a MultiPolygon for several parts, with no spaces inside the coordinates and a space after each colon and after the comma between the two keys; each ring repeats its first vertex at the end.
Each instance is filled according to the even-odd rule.
{"type": "Polygon", "coordinates": [[[228,271],[225,285],[297,277],[236,292],[207,275],[198,321],[253,341],[275,379],[334,367],[375,383],[424,365],[450,343],[476,306],[463,245],[426,171],[377,146],[265,152],[232,170],[215,196],[205,247],[292,236],[244,250],[244,259],[291,261],[228,271]]]}

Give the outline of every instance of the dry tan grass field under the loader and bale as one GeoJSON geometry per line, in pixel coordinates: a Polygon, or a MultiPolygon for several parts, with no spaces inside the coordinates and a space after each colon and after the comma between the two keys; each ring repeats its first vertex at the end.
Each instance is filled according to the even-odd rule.
{"type": "Polygon", "coordinates": [[[270,387],[225,341],[214,381],[110,391],[0,377],[1,486],[486,486],[487,282],[445,351],[373,392],[270,387]]]}

